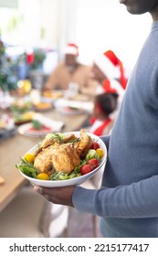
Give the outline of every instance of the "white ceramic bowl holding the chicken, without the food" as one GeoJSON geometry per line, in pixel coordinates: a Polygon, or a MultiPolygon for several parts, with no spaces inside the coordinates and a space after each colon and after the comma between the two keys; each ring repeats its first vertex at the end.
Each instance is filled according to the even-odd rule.
{"type": "MultiPolygon", "coordinates": [[[[74,133],[76,136],[80,136],[80,132],[69,132],[69,133],[74,133]]],[[[68,135],[69,133],[64,133],[68,135]]],[[[103,141],[100,139],[100,137],[96,136],[95,134],[88,133],[90,137],[95,141],[100,144],[100,148],[103,150],[104,155],[101,157],[100,160],[100,165],[92,170],[90,173],[79,176],[79,177],[74,177],[66,180],[42,180],[42,179],[37,179],[33,178],[30,176],[26,176],[23,172],[20,172],[22,176],[24,176],[26,179],[28,179],[32,184],[40,186],[40,187],[67,187],[67,186],[72,186],[72,185],[80,185],[86,180],[90,179],[91,176],[94,176],[97,172],[100,171],[100,168],[102,165],[106,164],[107,161],[107,148],[106,145],[103,143],[103,141]]],[[[28,150],[26,153],[34,153],[37,149],[37,145],[32,147],[30,150],[28,150]]],[[[25,154],[26,155],[26,154],[25,154]]],[[[24,156],[23,156],[24,157],[24,156]]]]}

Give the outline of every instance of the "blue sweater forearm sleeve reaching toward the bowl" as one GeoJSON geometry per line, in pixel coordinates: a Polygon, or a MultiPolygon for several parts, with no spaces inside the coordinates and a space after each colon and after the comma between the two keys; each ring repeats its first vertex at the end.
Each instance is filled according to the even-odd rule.
{"type": "Polygon", "coordinates": [[[122,187],[90,190],[76,187],[74,207],[101,217],[149,218],[158,216],[158,176],[122,187]]]}

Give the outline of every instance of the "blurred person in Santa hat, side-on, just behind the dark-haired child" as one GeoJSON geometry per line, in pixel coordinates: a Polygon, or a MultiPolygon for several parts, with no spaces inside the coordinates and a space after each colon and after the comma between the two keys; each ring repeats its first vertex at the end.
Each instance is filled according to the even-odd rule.
{"type": "Polygon", "coordinates": [[[117,110],[111,114],[111,117],[115,119],[127,84],[127,78],[125,77],[121,60],[118,59],[113,51],[107,50],[93,60],[90,77],[93,80],[98,80],[96,94],[102,92],[114,92],[118,94],[117,110]]]}

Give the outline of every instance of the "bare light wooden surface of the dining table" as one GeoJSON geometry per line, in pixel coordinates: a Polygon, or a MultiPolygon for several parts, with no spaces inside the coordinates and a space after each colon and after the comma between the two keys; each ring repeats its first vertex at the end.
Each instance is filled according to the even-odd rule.
{"type": "MultiPolygon", "coordinates": [[[[65,125],[62,132],[79,131],[88,114],[62,115],[57,110],[42,112],[52,120],[62,121],[65,125]]],[[[15,136],[0,142],[0,176],[4,184],[0,185],[0,211],[2,211],[19,193],[20,189],[27,184],[27,180],[20,175],[16,164],[20,156],[39,142],[38,137],[29,137],[16,133],[15,136]]]]}

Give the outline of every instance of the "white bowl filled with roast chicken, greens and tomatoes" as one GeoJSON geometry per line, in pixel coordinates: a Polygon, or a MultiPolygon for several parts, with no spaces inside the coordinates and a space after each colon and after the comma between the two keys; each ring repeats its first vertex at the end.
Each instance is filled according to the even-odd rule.
{"type": "Polygon", "coordinates": [[[42,142],[20,157],[16,168],[41,187],[80,185],[106,164],[107,148],[100,137],[79,132],[47,133],[42,142]]]}

